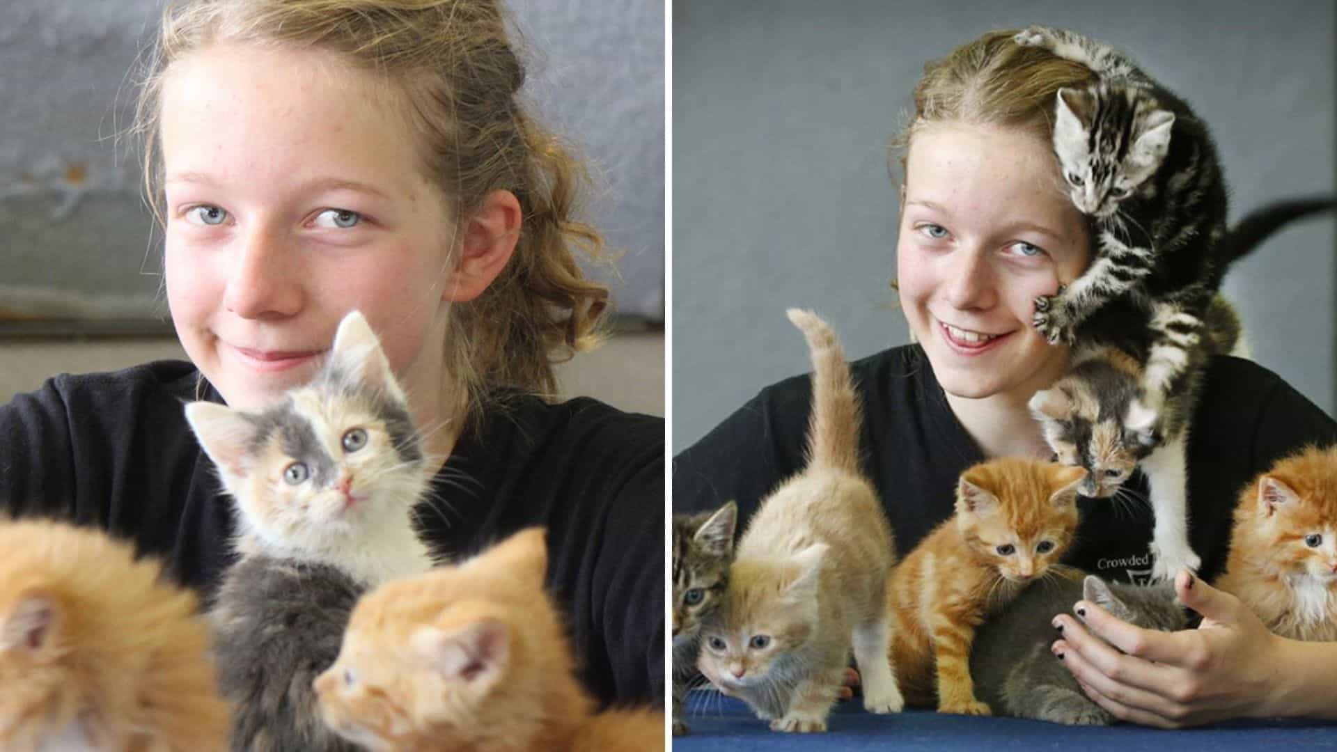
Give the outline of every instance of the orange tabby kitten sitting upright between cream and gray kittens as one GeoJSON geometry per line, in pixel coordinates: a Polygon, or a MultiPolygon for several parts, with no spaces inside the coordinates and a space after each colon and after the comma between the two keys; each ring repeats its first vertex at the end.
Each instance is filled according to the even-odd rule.
{"type": "Polygon", "coordinates": [[[1080,467],[1000,458],[961,474],[956,514],[892,573],[892,656],[912,704],[989,715],[971,645],[984,618],[1043,578],[1072,542],[1080,467]]]}

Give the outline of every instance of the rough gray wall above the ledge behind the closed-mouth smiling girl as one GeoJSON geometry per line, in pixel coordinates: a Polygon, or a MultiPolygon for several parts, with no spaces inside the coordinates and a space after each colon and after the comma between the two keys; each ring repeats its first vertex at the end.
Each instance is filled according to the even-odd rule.
{"type": "MultiPolygon", "coordinates": [[[[620,278],[596,273],[620,312],[663,320],[663,3],[508,4],[532,48],[528,95],[594,162],[586,215],[622,253],[620,278]]],[[[0,5],[0,312],[166,316],[138,151],[114,139],[160,0],[0,5]]]]}

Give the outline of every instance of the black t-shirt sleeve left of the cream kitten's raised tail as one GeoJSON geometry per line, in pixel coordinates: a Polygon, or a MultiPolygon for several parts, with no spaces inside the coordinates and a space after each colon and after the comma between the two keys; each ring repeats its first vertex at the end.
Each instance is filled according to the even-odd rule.
{"type": "Polygon", "coordinates": [[[674,458],[675,512],[738,503],[746,519],[757,503],[804,464],[812,387],[806,376],[762,389],[674,458]]]}

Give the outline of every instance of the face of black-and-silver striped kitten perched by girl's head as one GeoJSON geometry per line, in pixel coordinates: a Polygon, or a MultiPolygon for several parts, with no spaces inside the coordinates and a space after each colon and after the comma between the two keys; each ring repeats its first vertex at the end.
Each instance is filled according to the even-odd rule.
{"type": "Polygon", "coordinates": [[[1054,150],[1072,203],[1092,217],[1118,211],[1161,166],[1173,124],[1174,115],[1138,87],[1060,90],[1054,150]]]}

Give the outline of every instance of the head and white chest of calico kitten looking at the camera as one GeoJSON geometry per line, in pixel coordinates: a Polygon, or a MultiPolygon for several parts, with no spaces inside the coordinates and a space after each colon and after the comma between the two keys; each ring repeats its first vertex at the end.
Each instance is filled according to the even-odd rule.
{"type": "Polygon", "coordinates": [[[238,549],[340,566],[364,583],[421,570],[412,507],[435,472],[366,318],[340,322],[312,383],[253,413],[186,405],[238,508],[238,549]]]}

